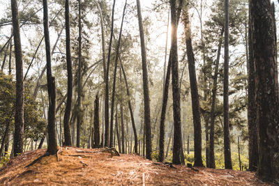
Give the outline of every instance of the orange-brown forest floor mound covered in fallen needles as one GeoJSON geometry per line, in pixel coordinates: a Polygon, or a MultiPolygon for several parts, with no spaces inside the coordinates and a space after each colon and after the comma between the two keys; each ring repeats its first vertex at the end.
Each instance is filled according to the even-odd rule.
{"type": "Polygon", "coordinates": [[[45,149],[15,157],[0,169],[0,185],[271,185],[248,171],[170,167],[139,155],[113,155],[102,149],[59,148],[43,157],[45,149]]]}

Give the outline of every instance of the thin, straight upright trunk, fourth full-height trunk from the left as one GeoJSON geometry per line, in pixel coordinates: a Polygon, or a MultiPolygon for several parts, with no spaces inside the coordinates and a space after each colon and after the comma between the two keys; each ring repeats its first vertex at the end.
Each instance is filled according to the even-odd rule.
{"type": "Polygon", "coordinates": [[[77,67],[77,147],[80,147],[80,127],[82,126],[82,9],[81,0],[78,0],[78,26],[79,26],[79,51],[77,67]]]}

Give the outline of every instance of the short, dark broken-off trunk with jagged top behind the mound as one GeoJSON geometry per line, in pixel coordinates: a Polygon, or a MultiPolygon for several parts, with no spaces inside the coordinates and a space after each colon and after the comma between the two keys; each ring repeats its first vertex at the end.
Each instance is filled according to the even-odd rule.
{"type": "Polygon", "coordinates": [[[100,125],[99,125],[99,98],[96,94],[94,104],[94,148],[100,148],[100,125]]]}

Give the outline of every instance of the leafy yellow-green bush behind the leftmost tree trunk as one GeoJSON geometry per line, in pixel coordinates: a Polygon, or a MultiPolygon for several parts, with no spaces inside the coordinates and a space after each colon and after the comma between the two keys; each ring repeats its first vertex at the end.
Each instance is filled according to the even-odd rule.
{"type": "MultiPolygon", "coordinates": [[[[24,84],[24,137],[37,141],[45,132],[45,120],[41,104],[31,97],[31,86],[24,84]]],[[[15,81],[12,77],[0,73],[0,135],[10,123],[9,131],[13,131],[15,116],[15,81]]]]}

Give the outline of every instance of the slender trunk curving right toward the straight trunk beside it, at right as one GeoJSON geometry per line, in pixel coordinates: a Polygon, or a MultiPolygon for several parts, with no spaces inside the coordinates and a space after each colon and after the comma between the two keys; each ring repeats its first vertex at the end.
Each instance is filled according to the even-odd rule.
{"type": "Polygon", "coordinates": [[[214,130],[215,130],[215,108],[216,108],[216,95],[217,95],[217,80],[218,80],[218,70],[219,70],[219,62],[220,62],[220,54],[222,47],[224,28],[222,28],[219,44],[218,44],[218,52],[216,65],[214,69],[213,76],[213,88],[212,88],[212,103],[211,103],[211,112],[210,112],[210,139],[209,139],[209,168],[215,169],[215,155],[214,155],[214,130]]]}

